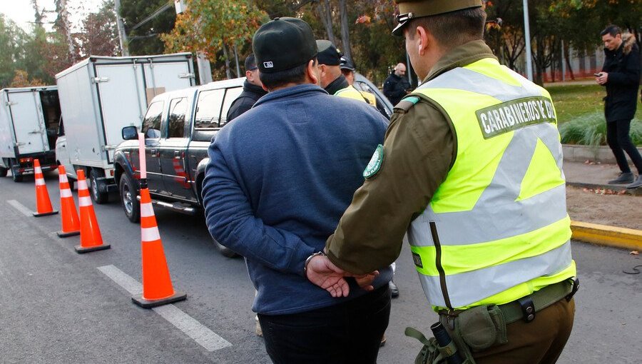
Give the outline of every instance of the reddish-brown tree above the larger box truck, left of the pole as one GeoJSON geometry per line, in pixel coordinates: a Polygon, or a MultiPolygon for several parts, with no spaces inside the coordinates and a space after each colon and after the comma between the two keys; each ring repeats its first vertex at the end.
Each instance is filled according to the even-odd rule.
{"type": "Polygon", "coordinates": [[[83,20],[82,31],[74,34],[81,44],[81,53],[96,56],[117,56],[120,54],[116,14],[113,1],[103,1],[97,13],[90,13],[83,20]]]}

